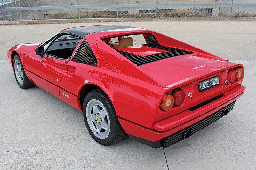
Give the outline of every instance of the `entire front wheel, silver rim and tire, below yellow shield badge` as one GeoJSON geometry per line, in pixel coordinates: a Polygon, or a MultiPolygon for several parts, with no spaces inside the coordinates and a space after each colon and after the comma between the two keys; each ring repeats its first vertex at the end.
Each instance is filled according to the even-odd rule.
{"type": "Polygon", "coordinates": [[[34,84],[28,79],[28,77],[24,72],[19,55],[15,55],[13,58],[13,70],[14,70],[15,79],[18,85],[20,86],[20,88],[27,89],[29,87],[34,86],[34,84]]]}

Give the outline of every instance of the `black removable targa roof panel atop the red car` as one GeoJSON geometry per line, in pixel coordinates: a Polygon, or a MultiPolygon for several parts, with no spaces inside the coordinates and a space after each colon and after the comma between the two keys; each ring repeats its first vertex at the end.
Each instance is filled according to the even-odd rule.
{"type": "Polygon", "coordinates": [[[64,30],[62,33],[73,34],[78,37],[84,38],[86,35],[90,33],[96,33],[101,31],[108,30],[116,30],[116,29],[124,29],[124,28],[134,28],[131,26],[115,26],[115,25],[102,25],[102,26],[83,26],[76,28],[69,28],[64,30]]]}

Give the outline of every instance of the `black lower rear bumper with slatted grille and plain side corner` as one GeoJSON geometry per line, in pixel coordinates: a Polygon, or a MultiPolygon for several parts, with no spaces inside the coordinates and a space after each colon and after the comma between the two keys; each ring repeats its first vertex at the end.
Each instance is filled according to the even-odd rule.
{"type": "Polygon", "coordinates": [[[230,112],[234,106],[235,106],[236,101],[230,103],[228,106],[223,107],[219,111],[213,113],[212,115],[204,118],[203,120],[196,122],[195,124],[189,126],[186,129],[180,130],[179,132],[172,134],[168,137],[165,137],[164,139],[157,141],[157,142],[151,142],[145,139],[142,139],[140,137],[136,137],[133,135],[129,135],[131,139],[136,140],[142,144],[146,144],[152,148],[167,148],[173,144],[176,144],[177,142],[180,142],[181,140],[185,139],[184,135],[187,131],[193,135],[194,133],[198,132],[201,129],[204,129],[206,126],[212,124],[213,122],[219,120],[221,117],[224,115],[227,115],[228,112],[230,112]]]}

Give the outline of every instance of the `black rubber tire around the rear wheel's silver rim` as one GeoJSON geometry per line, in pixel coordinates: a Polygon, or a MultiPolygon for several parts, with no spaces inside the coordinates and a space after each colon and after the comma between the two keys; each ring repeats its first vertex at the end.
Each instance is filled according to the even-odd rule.
{"type": "MultiPolygon", "coordinates": [[[[90,109],[89,106],[88,106],[88,109],[90,109]]],[[[124,129],[122,128],[122,126],[120,125],[120,123],[117,119],[117,115],[116,115],[115,109],[114,109],[111,101],[109,100],[106,93],[103,92],[101,89],[92,90],[85,96],[84,103],[83,103],[83,115],[84,115],[84,122],[85,122],[87,130],[89,131],[92,138],[99,144],[109,146],[111,144],[120,142],[128,137],[128,134],[125,133],[124,129]],[[89,123],[88,123],[88,121],[90,121],[91,118],[89,118],[88,114],[86,113],[87,104],[89,101],[91,102],[92,100],[95,100],[95,99],[100,101],[101,104],[103,104],[103,106],[107,110],[107,114],[109,117],[110,131],[109,131],[108,137],[106,137],[105,139],[101,139],[98,136],[96,136],[94,134],[93,130],[90,128],[89,123]],[[88,120],[87,120],[87,118],[88,118],[88,120]]],[[[99,118],[98,118],[98,120],[99,120],[99,118]]],[[[97,121],[96,121],[96,123],[97,123],[97,121]]],[[[94,124],[95,124],[95,122],[94,122],[94,124]]]]}

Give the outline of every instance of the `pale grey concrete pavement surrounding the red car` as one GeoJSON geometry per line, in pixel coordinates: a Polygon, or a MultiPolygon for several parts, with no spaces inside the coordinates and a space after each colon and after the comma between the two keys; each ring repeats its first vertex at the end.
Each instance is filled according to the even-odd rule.
{"type": "Polygon", "coordinates": [[[108,22],[152,29],[244,64],[245,94],[219,121],[173,146],[153,149],[131,139],[102,146],[80,111],[44,90],[17,85],[6,52],[42,42],[62,29],[104,23],[0,25],[0,170],[5,169],[254,169],[256,167],[256,22],[108,22]]]}

